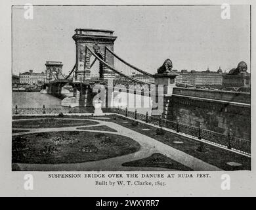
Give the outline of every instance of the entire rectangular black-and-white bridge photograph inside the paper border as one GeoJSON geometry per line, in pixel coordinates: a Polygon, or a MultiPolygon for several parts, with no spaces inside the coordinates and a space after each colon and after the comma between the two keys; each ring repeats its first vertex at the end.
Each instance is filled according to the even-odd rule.
{"type": "Polygon", "coordinates": [[[251,170],[250,15],[14,5],[12,171],[251,170]]]}

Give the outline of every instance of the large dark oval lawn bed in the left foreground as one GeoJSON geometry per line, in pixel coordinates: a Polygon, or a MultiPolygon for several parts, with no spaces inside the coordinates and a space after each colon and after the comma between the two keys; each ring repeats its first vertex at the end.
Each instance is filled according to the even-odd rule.
{"type": "Polygon", "coordinates": [[[12,163],[81,163],[137,152],[135,140],[85,131],[33,133],[12,137],[12,163]]]}

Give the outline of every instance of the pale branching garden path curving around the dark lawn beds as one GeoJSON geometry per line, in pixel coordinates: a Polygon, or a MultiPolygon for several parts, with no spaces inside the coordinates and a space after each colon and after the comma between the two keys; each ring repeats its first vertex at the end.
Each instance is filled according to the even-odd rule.
{"type": "MultiPolygon", "coordinates": [[[[35,118],[33,118],[35,119],[35,118]]],[[[41,119],[41,118],[37,118],[41,119]]],[[[62,118],[70,119],[70,118],[62,118]]],[[[73,119],[73,118],[72,118],[73,119]]],[[[74,118],[75,119],[75,118],[74,118]]],[[[25,120],[16,119],[13,121],[25,120]]],[[[30,120],[30,119],[26,119],[30,120]]],[[[77,119],[75,119],[77,120],[77,119]]],[[[90,161],[85,163],[63,163],[63,164],[28,164],[28,163],[18,163],[21,170],[25,171],[173,171],[171,169],[162,169],[155,167],[123,167],[121,164],[136,159],[146,158],[154,153],[161,153],[175,161],[178,161],[182,165],[190,167],[194,171],[221,171],[218,167],[211,165],[202,161],[201,159],[194,158],[180,150],[177,150],[167,144],[163,144],[154,138],[150,138],[146,135],[142,135],[137,131],[133,131],[117,123],[109,121],[100,121],[95,119],[78,119],[78,120],[88,120],[96,121],[97,125],[81,125],[75,127],[58,127],[58,128],[41,128],[41,129],[30,129],[28,132],[14,133],[12,136],[23,135],[29,133],[40,133],[40,132],[54,132],[54,131],[87,131],[96,133],[111,133],[115,135],[123,135],[125,137],[132,138],[139,142],[141,148],[138,152],[133,154],[128,154],[125,156],[119,156],[116,158],[103,159],[99,161],[90,161]],[[95,127],[100,125],[106,125],[117,132],[110,131],[97,131],[97,130],[77,130],[78,127],[95,127]]],[[[19,130],[19,129],[17,129],[19,130]]],[[[20,129],[22,130],[22,129],[20,129]]],[[[23,129],[28,130],[28,129],[23,129]]]]}

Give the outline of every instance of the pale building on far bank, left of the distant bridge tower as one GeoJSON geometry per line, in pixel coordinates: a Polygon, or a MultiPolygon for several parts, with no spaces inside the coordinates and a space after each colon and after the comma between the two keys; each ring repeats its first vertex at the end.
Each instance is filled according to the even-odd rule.
{"type": "Polygon", "coordinates": [[[19,79],[20,84],[41,85],[45,82],[46,74],[44,72],[35,73],[33,70],[30,70],[20,74],[19,79]]]}

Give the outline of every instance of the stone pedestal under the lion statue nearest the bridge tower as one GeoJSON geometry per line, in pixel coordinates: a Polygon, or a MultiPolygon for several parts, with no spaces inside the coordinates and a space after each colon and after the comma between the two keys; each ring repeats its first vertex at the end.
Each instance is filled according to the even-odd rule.
{"type": "Polygon", "coordinates": [[[172,95],[173,87],[175,87],[175,77],[177,77],[175,72],[163,73],[163,74],[155,74],[155,85],[163,85],[163,94],[164,95],[172,95]]]}

